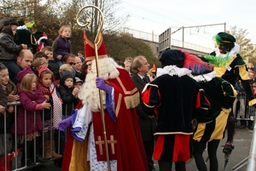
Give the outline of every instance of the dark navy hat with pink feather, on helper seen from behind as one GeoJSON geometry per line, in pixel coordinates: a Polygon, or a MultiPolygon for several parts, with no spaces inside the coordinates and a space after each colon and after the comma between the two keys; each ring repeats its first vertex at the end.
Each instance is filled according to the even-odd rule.
{"type": "Polygon", "coordinates": [[[177,49],[169,49],[160,57],[162,66],[177,65],[184,61],[184,54],[177,49]]]}

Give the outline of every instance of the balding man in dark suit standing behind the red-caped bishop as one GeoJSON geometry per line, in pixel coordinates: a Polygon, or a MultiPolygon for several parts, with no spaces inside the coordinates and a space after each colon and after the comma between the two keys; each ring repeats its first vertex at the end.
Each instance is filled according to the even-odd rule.
{"type": "MultiPolygon", "coordinates": [[[[131,65],[131,70],[133,71],[131,79],[140,92],[140,100],[145,84],[150,82],[149,77],[147,76],[149,66],[148,61],[144,56],[135,57],[131,65]]],[[[154,171],[154,161],[152,160],[152,156],[154,151],[154,128],[156,126],[156,119],[154,116],[149,116],[142,110],[142,103],[143,101],[141,100],[140,105],[137,106],[138,120],[143,135],[143,144],[148,160],[148,170],[154,171]]]]}

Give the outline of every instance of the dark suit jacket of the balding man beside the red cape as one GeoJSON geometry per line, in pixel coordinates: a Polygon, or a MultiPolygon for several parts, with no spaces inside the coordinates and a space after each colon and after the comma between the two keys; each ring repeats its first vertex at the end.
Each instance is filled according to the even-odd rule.
{"type": "MultiPolygon", "coordinates": [[[[146,78],[147,83],[149,83],[149,77],[147,75],[144,77],[146,78]]],[[[137,73],[133,73],[131,79],[140,93],[140,104],[137,106],[137,115],[139,116],[138,121],[142,131],[143,141],[154,140],[154,128],[156,126],[156,119],[155,117],[152,119],[148,118],[148,114],[145,113],[142,109],[142,91],[146,83],[143,82],[143,79],[139,77],[137,73]]]]}

